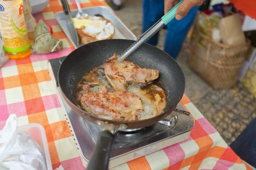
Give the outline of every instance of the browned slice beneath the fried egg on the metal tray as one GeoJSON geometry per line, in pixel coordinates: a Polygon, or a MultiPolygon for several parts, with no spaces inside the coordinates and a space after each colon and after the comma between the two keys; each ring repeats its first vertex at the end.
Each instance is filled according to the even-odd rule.
{"type": "MultiPolygon", "coordinates": [[[[106,24],[111,23],[110,20],[107,20],[103,17],[89,16],[86,19],[102,20],[102,21],[105,21],[106,24]]],[[[106,39],[115,38],[115,27],[114,27],[113,23],[111,23],[111,26],[113,26],[113,29],[114,29],[113,34],[109,34],[108,37],[104,37],[104,38],[98,38],[97,35],[90,35],[88,32],[84,31],[84,29],[85,29],[84,26],[82,26],[81,29],[76,29],[77,35],[78,35],[78,38],[79,38],[79,43],[87,44],[87,43],[91,43],[91,42],[94,42],[94,41],[97,41],[97,40],[106,40],[106,39]]]]}

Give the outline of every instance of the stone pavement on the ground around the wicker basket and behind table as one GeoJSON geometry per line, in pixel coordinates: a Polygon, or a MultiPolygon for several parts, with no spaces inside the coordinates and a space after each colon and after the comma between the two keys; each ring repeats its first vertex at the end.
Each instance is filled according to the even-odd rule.
{"type": "MultiPolygon", "coordinates": [[[[110,6],[111,0],[107,0],[110,6]]],[[[142,0],[123,0],[117,15],[137,37],[142,34],[142,0]]],[[[160,31],[158,48],[163,49],[166,30],[160,31]]],[[[209,122],[218,130],[227,144],[256,118],[256,99],[238,83],[228,89],[214,90],[193,72],[186,63],[189,51],[184,43],[177,59],[186,76],[186,95],[209,122]]]]}

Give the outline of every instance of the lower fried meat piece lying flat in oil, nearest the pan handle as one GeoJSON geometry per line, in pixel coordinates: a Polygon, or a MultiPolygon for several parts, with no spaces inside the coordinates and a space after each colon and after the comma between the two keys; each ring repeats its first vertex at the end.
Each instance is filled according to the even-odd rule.
{"type": "Polygon", "coordinates": [[[128,92],[108,92],[103,86],[100,92],[89,92],[90,85],[83,87],[84,93],[79,96],[81,108],[98,116],[107,116],[115,121],[136,121],[138,112],[143,111],[141,99],[128,92]]]}

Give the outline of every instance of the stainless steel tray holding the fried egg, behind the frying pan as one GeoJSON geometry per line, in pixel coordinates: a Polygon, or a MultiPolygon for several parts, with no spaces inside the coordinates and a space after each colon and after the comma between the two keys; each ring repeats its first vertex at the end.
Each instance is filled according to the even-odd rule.
{"type": "MultiPolygon", "coordinates": [[[[125,26],[124,23],[115,15],[113,12],[111,12],[108,7],[105,6],[94,6],[89,8],[82,9],[83,12],[89,14],[89,15],[96,15],[106,18],[107,20],[110,20],[113,25],[115,26],[115,38],[116,39],[129,39],[129,40],[137,40],[137,37],[132,33],[127,26],[125,26]]],[[[75,17],[78,12],[78,9],[71,10],[70,16],[75,17]]],[[[58,21],[59,25],[61,25],[61,22],[66,22],[68,15],[65,15],[64,12],[57,12],[55,15],[56,20],[58,21]]],[[[61,29],[64,31],[64,33],[67,35],[67,27],[61,27],[61,29]]],[[[68,37],[68,35],[67,35],[68,37]]],[[[74,45],[74,42],[70,40],[71,43],[74,45]]],[[[79,44],[79,46],[82,46],[83,44],[79,44]]]]}

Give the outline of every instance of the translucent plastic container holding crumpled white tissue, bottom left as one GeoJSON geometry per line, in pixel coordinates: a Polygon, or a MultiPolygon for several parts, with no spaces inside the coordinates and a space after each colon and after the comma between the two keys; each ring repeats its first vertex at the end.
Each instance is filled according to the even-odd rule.
{"type": "Polygon", "coordinates": [[[44,150],[47,170],[52,170],[52,161],[50,158],[44,127],[42,127],[40,124],[26,124],[23,126],[18,126],[17,130],[29,133],[33,140],[36,141],[42,147],[42,149],[44,150]]]}

